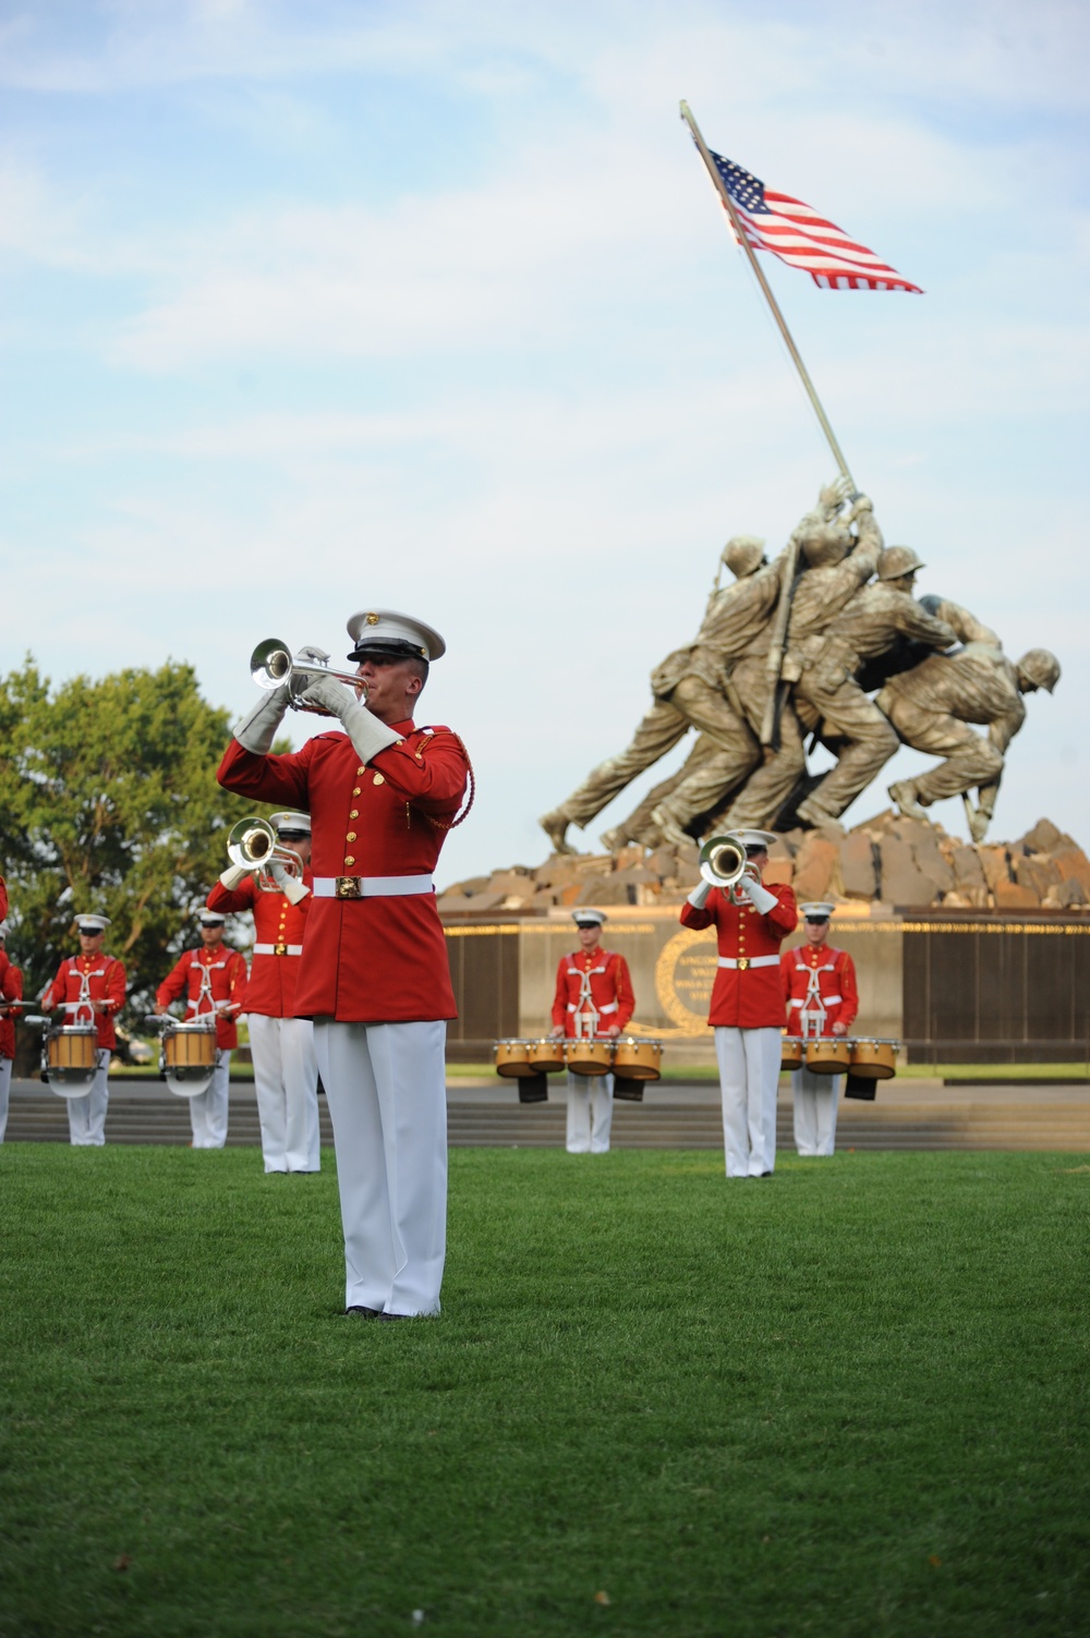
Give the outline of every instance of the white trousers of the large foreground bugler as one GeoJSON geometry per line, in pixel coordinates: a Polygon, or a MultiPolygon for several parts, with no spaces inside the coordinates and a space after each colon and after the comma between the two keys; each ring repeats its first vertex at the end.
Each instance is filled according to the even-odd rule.
{"type": "Polygon", "coordinates": [[[344,1305],[438,1314],[446,1256],[446,1024],[315,1020],[344,1227],[344,1305]]]}

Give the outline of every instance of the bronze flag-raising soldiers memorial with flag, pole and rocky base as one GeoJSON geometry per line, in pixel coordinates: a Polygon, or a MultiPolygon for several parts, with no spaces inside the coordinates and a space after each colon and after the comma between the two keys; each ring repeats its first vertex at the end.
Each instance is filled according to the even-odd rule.
{"type": "MultiPolygon", "coordinates": [[[[918,287],[810,206],[765,190],[749,172],[713,154],[685,103],[682,118],[769,301],[839,475],[820,490],[775,555],[756,536],[739,534],[726,542],[703,621],[692,642],[652,670],[651,704],[629,744],[541,817],[552,857],[536,870],[493,871],[443,894],[439,909],[452,935],[456,973],[459,958],[467,958],[456,950],[459,921],[472,916],[479,922],[488,916],[497,921],[497,937],[520,932],[518,980],[508,976],[505,1017],[495,1019],[493,1030],[484,1017],[477,1027],[470,1022],[464,1035],[469,1045],[472,1037],[490,1032],[533,1032],[547,1012],[556,957],[570,942],[570,907],[585,904],[610,906],[610,943],[624,948],[633,965],[638,1012],[629,1027],[697,1038],[703,1032],[700,1014],[715,947],[705,935],[695,948],[695,934],[677,932],[675,906],[700,880],[698,847],[705,839],[762,829],[777,835],[765,880],[792,881],[800,903],[839,901],[844,909],[834,917],[838,942],[844,942],[841,930],[849,929],[857,935],[864,930],[887,935],[865,939],[857,948],[864,966],[862,1014],[867,1007],[872,1012],[869,1025],[882,1034],[915,1030],[929,1037],[938,1004],[929,989],[941,988],[942,978],[928,966],[926,993],[915,999],[906,989],[900,994],[903,930],[916,930],[916,922],[902,917],[898,924],[895,907],[902,912],[929,907],[938,927],[934,909],[941,906],[944,916],[962,917],[964,930],[980,930],[970,912],[977,917],[1000,912],[1008,921],[993,921],[988,930],[1008,934],[1023,929],[1034,911],[1038,919],[1042,911],[1067,912],[1062,917],[1067,929],[1090,932],[1080,919],[1090,901],[1090,863],[1070,837],[1041,821],[1018,844],[985,840],[1008,747],[1026,721],[1026,696],[1038,690],[1052,693],[1060,665],[1044,647],[1010,657],[1000,634],[975,609],[941,591],[916,596],[916,577],[926,565],[910,545],[887,545],[875,505],[852,480],[754,249],[805,269],[826,288],[915,292],[918,287]],[[682,767],[602,835],[608,852],[577,853],[570,827],[590,826],[639,775],[690,735],[695,737],[682,767]],[[892,783],[892,806],[846,832],[841,816],[900,745],[934,762],[923,773],[892,783]],[[810,770],[808,753],[816,747],[834,758],[828,771],[810,770]],[[931,804],[956,796],[964,801],[969,844],[947,835],[926,814],[931,804]],[[667,912],[667,906],[674,909],[667,912]],[[643,922],[643,934],[652,932],[647,924],[652,911],[664,924],[656,929],[652,950],[639,960],[638,927],[643,922]],[[528,921],[516,929],[510,924],[511,912],[544,916],[552,922],[552,937],[534,939],[528,921]],[[500,927],[505,914],[508,924],[500,927]],[[638,1022],[654,1011],[657,1019],[638,1022]]],[[[942,927],[949,930],[947,922],[942,927]]],[[[547,925],[533,930],[544,934],[547,925]]],[[[990,942],[998,950],[1001,940],[990,942]]],[[[1042,947],[1044,940],[1036,943],[1042,947]]],[[[967,947],[964,940],[959,945],[949,958],[964,966],[967,947]]],[[[1065,945],[1074,983],[1074,968],[1087,958],[1085,940],[1065,945]]],[[[1049,971],[1052,965],[1046,963],[1049,971]]],[[[1023,993],[1023,1014],[1033,1006],[1033,998],[1023,993]]],[[[1085,1034],[1082,1014],[1085,1006],[1056,1034],[1077,1042],[1085,1034]]],[[[982,1019],[974,1016],[967,1022],[965,1009],[947,1022],[954,1022],[957,1037],[982,1035],[982,1019]]],[[[998,1050],[998,1042],[1010,1043],[1016,1034],[1029,1040],[1041,1032],[1023,1016],[1021,1024],[1008,1019],[998,1027],[985,1020],[983,1034],[995,1042],[995,1057],[1016,1057],[998,1050]]],[[[969,1047],[949,1053],[975,1055],[969,1047]]]]}

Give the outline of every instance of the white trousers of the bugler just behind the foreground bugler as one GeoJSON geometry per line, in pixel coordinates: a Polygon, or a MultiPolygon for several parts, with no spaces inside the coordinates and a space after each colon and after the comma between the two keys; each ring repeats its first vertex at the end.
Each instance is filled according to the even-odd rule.
{"type": "Polygon", "coordinates": [[[318,1171],[318,1060],[310,1019],[249,1014],[266,1171],[318,1171]]]}

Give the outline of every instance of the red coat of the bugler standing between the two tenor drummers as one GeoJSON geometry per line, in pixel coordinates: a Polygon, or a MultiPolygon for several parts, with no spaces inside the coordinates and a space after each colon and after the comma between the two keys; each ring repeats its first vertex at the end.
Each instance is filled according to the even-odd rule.
{"type": "Polygon", "coordinates": [[[777,903],[762,916],[749,901],[734,904],[721,888],[711,888],[703,909],[682,904],[682,927],[715,927],[723,958],[711,989],[708,1024],[731,1029],[782,1029],[783,986],[780,945],[798,925],[795,894],[785,886],[769,886],[777,903]],[[754,965],[756,963],[756,965],[754,965]]]}

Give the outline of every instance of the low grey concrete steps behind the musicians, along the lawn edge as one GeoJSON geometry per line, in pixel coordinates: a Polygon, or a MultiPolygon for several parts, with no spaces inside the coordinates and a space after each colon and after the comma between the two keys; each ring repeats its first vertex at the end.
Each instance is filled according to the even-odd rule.
{"type": "MultiPolygon", "coordinates": [[[[325,1099],[318,1102],[321,1142],[333,1143],[333,1127],[325,1099]]],[[[447,1104],[447,1133],[452,1147],[557,1148],[564,1143],[565,1106],[562,1097],[547,1104],[469,1102],[447,1104]]],[[[11,1097],[8,1142],[66,1143],[69,1137],[64,1099],[52,1093],[20,1093],[11,1097]]],[[[170,1143],[190,1140],[188,1106],[167,1094],[115,1094],[107,1115],[110,1143],[170,1143]]],[[[1090,1099],[1044,1101],[1028,1096],[1013,1102],[1006,1094],[990,1104],[980,1097],[961,1102],[888,1102],[841,1106],[836,1133],[839,1148],[857,1150],[1060,1150],[1090,1152],[1090,1099]]],[[[790,1101],[782,1099],[777,1142],[792,1148],[790,1101]]],[[[228,1143],[261,1143],[257,1104],[252,1093],[231,1096],[228,1143]]],[[[613,1111],[616,1148],[723,1148],[718,1104],[616,1104],[613,1111]]]]}

